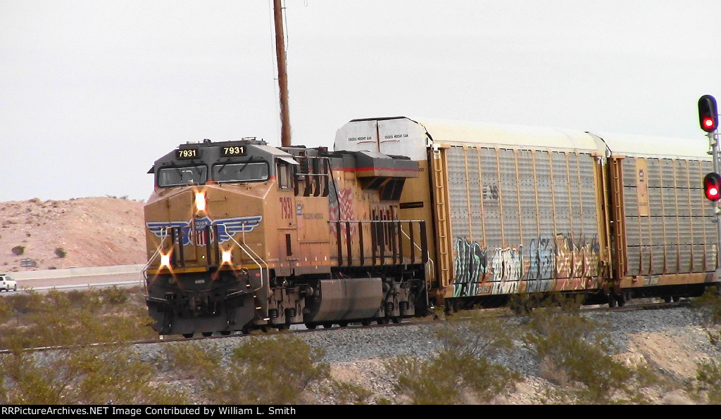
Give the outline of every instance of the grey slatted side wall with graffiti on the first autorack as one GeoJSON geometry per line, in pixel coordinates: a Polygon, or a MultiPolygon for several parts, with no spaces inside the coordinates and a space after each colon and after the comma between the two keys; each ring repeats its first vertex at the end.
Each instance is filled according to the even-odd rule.
{"type": "Polygon", "coordinates": [[[454,281],[445,297],[601,287],[596,156],[446,148],[454,281]]]}

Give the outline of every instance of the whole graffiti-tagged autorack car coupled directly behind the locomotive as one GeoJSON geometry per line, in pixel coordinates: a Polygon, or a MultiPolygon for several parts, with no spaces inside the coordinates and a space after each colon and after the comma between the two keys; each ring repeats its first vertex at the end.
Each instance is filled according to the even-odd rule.
{"type": "Polygon", "coordinates": [[[348,123],[336,148],[372,147],[358,138],[377,138],[381,152],[410,156],[428,171],[410,180],[401,206],[435,229],[431,286],[439,288],[439,302],[583,289],[599,274],[599,258],[610,264],[604,150],[585,132],[377,118],[348,123]]]}

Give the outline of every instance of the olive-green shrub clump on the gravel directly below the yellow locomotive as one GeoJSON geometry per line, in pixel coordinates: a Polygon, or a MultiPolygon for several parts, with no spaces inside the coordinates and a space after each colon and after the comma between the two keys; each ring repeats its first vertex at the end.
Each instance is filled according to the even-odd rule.
{"type": "Polygon", "coordinates": [[[329,377],[329,365],[318,362],[322,351],[286,334],[244,339],[227,365],[219,353],[199,347],[169,351],[174,368],[195,377],[204,400],[213,404],[298,404],[311,382],[329,377]]]}

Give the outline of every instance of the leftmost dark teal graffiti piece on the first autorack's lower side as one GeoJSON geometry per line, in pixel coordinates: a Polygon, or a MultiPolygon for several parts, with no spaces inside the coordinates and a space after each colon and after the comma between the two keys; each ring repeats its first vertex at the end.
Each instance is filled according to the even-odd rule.
{"type": "Polygon", "coordinates": [[[476,242],[465,238],[456,239],[456,278],[454,280],[454,297],[476,295],[478,282],[488,272],[486,251],[476,242]]]}

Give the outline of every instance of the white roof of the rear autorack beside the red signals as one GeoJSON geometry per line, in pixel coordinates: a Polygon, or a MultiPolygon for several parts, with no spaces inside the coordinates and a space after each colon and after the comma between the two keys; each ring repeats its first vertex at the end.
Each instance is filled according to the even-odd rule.
{"type": "Polygon", "coordinates": [[[598,134],[590,132],[609,146],[611,154],[649,158],[697,158],[711,160],[707,153],[709,140],[698,138],[671,138],[651,135],[598,134]]]}

